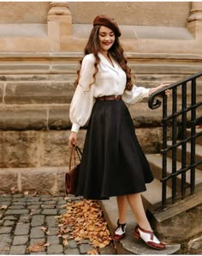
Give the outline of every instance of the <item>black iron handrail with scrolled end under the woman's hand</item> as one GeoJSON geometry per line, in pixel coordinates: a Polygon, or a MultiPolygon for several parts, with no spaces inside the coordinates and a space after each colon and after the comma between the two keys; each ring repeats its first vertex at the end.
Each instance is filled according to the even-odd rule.
{"type": "MultiPolygon", "coordinates": [[[[193,75],[193,76],[188,76],[187,78],[185,79],[182,79],[178,82],[175,82],[175,83],[171,83],[168,87],[166,87],[166,89],[172,89],[172,88],[176,88],[178,86],[181,85],[181,83],[183,82],[189,82],[199,76],[202,76],[202,71],[200,71],[199,73],[193,75]]],[[[159,96],[163,96],[164,94],[164,91],[165,91],[165,88],[162,88],[160,90],[157,90],[157,92],[153,93],[150,95],[149,97],[149,101],[148,101],[148,106],[151,108],[151,109],[156,109],[157,107],[161,107],[161,104],[162,104],[162,101],[160,101],[160,99],[157,99],[157,97],[159,96]]]]}

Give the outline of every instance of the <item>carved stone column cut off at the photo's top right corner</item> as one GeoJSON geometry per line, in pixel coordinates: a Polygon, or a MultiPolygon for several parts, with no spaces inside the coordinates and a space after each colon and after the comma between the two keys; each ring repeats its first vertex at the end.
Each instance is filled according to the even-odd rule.
{"type": "Polygon", "coordinates": [[[196,40],[202,38],[202,2],[192,2],[187,28],[196,40]]]}

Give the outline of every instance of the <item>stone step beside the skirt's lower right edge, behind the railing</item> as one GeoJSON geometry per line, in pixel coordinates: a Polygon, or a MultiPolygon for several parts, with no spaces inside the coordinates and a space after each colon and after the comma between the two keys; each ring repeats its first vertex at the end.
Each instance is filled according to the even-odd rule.
{"type": "MultiPolygon", "coordinates": [[[[157,180],[162,179],[162,155],[146,154],[146,158],[150,163],[152,174],[157,180]]],[[[181,162],[176,162],[176,169],[181,169],[181,162]]],[[[167,174],[172,174],[172,159],[167,157],[167,174]]],[[[167,181],[167,186],[172,187],[172,180],[167,181]]],[[[198,168],[195,169],[195,186],[202,187],[202,172],[198,168]]],[[[190,187],[190,171],[186,172],[186,187],[190,187]]],[[[181,175],[176,177],[176,191],[181,192],[181,175]]],[[[170,195],[170,191],[169,195],[170,195]]]]}

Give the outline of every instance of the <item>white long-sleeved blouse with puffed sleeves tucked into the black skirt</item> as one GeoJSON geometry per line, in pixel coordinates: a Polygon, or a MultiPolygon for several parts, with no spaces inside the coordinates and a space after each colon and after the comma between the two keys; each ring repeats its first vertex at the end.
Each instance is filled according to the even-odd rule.
{"type": "Polygon", "coordinates": [[[95,72],[95,57],[87,54],[82,61],[80,70],[80,79],[70,105],[70,121],[72,122],[71,131],[78,132],[80,126],[86,125],[91,116],[92,107],[95,98],[107,95],[122,95],[122,100],[128,104],[140,102],[144,97],[149,96],[150,88],[136,87],[132,90],[124,90],[126,87],[126,73],[121,66],[111,58],[112,64],[98,52],[100,63],[98,64],[98,73],[96,82],[93,82],[95,72]]]}

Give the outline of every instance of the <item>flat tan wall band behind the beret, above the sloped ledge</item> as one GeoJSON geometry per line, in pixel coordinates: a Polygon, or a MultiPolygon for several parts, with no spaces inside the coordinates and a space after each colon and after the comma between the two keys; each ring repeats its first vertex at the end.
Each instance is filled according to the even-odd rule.
{"type": "MultiPolygon", "coordinates": [[[[95,15],[106,14],[122,25],[185,27],[191,3],[69,2],[68,6],[73,24],[92,24],[95,15]]],[[[49,9],[50,2],[0,3],[0,23],[46,23],[49,9]]]]}

